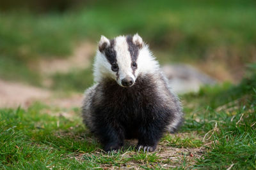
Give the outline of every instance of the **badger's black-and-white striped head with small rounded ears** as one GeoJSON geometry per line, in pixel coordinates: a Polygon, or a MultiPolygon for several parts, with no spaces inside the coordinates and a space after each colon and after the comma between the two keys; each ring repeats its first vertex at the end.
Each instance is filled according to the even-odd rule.
{"type": "Polygon", "coordinates": [[[122,87],[131,87],[139,75],[157,67],[158,62],[138,34],[111,40],[101,36],[94,62],[95,81],[111,78],[122,87]]]}

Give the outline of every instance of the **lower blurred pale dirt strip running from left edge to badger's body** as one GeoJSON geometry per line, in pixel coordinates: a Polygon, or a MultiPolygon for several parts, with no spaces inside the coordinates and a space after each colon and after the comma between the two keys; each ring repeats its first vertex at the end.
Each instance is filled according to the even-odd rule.
{"type": "Polygon", "coordinates": [[[81,106],[83,94],[58,97],[51,90],[0,80],[0,108],[28,108],[35,101],[59,108],[76,108],[81,106]]]}

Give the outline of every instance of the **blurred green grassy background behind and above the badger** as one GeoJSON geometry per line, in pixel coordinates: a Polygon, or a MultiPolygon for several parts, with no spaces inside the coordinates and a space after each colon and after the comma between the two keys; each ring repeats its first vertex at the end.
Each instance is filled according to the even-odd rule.
{"type": "MultiPolygon", "coordinates": [[[[239,82],[256,60],[256,1],[1,1],[0,78],[83,91],[92,63],[47,74],[42,60],[68,58],[81,42],[138,32],[161,64],[186,62],[239,82]],[[46,83],[47,84],[47,83],[46,83]]],[[[90,59],[92,59],[92,56],[90,59]]]]}

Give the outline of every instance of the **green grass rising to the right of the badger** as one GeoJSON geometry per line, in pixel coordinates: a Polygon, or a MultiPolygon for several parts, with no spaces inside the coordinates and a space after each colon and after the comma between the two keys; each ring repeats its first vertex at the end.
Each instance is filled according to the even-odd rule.
{"type": "Polygon", "coordinates": [[[194,113],[187,115],[182,131],[198,131],[212,142],[195,167],[225,169],[234,164],[234,169],[255,169],[255,69],[237,86],[205,88],[185,97],[198,101],[193,101],[194,113]]]}

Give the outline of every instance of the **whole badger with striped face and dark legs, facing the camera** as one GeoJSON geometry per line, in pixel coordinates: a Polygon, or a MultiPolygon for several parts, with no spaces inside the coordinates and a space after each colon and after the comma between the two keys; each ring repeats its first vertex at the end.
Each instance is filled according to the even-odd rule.
{"type": "Polygon", "coordinates": [[[119,150],[124,139],[138,139],[137,150],[153,152],[164,132],[182,124],[179,98],[142,38],[101,36],[93,76],[84,93],[84,124],[106,152],[119,150]]]}

